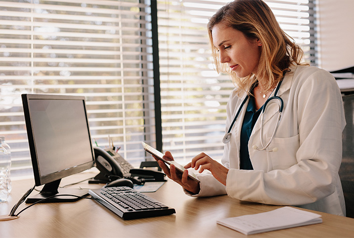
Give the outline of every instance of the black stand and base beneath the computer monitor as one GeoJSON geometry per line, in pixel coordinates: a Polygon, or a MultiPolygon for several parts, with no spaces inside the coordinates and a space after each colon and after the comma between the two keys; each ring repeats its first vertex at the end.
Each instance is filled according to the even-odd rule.
{"type": "MultiPolygon", "coordinates": [[[[61,179],[46,183],[39,194],[33,195],[26,199],[26,204],[33,204],[53,195],[76,195],[79,197],[88,196],[87,189],[59,188],[60,180],[61,179]]],[[[43,201],[43,203],[68,203],[76,202],[80,199],[82,198],[77,198],[73,196],[58,196],[45,200],[43,201]]]]}

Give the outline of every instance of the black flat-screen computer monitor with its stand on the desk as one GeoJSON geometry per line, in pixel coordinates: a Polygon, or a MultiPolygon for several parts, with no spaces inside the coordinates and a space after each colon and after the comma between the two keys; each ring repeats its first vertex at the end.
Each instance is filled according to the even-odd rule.
{"type": "MultiPolygon", "coordinates": [[[[59,188],[62,178],[94,166],[85,97],[23,94],[22,104],[35,183],[44,185],[26,203],[59,194],[87,196],[88,190],[59,188]]],[[[79,199],[58,196],[45,202],[79,199]]]]}

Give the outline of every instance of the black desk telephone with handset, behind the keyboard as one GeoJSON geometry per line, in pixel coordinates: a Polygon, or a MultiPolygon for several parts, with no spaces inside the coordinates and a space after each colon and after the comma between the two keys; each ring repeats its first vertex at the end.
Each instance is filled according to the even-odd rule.
{"type": "Polygon", "coordinates": [[[89,183],[107,183],[118,178],[129,178],[135,184],[141,181],[166,181],[166,174],[159,171],[134,169],[120,154],[112,148],[94,147],[97,169],[100,171],[89,183]],[[133,179],[138,177],[138,179],[133,179]]]}

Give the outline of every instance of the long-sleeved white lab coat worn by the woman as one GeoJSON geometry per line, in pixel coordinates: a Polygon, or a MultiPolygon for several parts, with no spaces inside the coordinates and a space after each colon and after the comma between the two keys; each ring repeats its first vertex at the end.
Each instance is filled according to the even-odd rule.
{"type": "MultiPolygon", "coordinates": [[[[274,92],[271,96],[273,96],[274,92]]],[[[277,93],[284,101],[279,127],[268,149],[260,142],[261,116],[252,131],[248,149],[254,170],[239,170],[240,132],[247,108],[243,106],[224,146],[222,164],[229,169],[226,186],[210,174],[201,180],[198,195],[226,194],[243,201],[295,205],[345,215],[338,170],[342,161],[342,132],[346,125],[343,101],[333,76],[325,70],[291,66],[277,93]]],[[[231,93],[227,103],[226,130],[246,97],[231,93]]],[[[278,116],[277,100],[268,103],[264,119],[264,144],[269,141],[278,116]]],[[[186,192],[187,193],[187,192],[186,192]]],[[[188,193],[187,193],[188,194],[188,193]]]]}

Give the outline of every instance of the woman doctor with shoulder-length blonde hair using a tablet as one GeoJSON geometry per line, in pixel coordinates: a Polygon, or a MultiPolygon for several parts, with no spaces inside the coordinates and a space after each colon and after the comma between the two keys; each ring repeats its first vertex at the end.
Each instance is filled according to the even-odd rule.
{"type": "MultiPolygon", "coordinates": [[[[160,167],[190,196],[227,194],[345,215],[338,170],[346,123],[333,76],[301,63],[303,51],[262,0],[228,3],[208,31],[218,72],[236,85],[227,103],[222,164],[205,153],[195,156],[184,168],[198,170],[200,183],[188,179],[188,170],[179,174],[158,161],[160,167]],[[267,102],[274,95],[281,100],[267,102]]],[[[165,157],[173,160],[168,151],[165,157]]]]}

